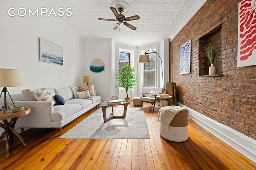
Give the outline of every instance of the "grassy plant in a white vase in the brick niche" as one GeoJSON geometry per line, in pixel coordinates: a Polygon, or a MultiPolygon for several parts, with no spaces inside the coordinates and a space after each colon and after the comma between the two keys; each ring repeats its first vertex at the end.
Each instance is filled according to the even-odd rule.
{"type": "Polygon", "coordinates": [[[210,60],[211,66],[209,67],[209,75],[216,74],[216,68],[214,66],[214,59],[217,53],[217,46],[213,45],[212,43],[207,44],[204,46],[204,55],[210,60]]]}

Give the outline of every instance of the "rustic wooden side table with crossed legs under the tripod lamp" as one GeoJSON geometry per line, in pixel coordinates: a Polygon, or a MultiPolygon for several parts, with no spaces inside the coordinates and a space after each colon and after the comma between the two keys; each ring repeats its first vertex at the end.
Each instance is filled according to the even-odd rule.
{"type": "Polygon", "coordinates": [[[5,149],[6,149],[6,157],[9,156],[9,148],[10,144],[13,144],[13,136],[16,136],[20,142],[24,145],[24,147],[28,147],[26,144],[26,140],[20,136],[15,130],[15,124],[17,119],[20,116],[27,115],[31,112],[30,107],[24,107],[22,111],[18,112],[12,112],[11,110],[6,110],[5,113],[4,111],[0,111],[0,120],[3,121],[4,124],[0,123],[0,127],[4,129],[4,132],[0,136],[0,143],[5,139],[5,149]],[[7,119],[11,119],[10,122],[8,122],[7,119]],[[8,138],[9,136],[9,138],[8,138]]]}

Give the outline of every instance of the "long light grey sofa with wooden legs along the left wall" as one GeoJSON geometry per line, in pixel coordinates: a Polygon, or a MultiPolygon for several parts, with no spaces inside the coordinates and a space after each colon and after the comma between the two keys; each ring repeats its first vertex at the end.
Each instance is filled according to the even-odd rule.
{"type": "MultiPolygon", "coordinates": [[[[73,92],[78,92],[78,88],[47,88],[54,96],[60,95],[64,98],[64,105],[54,105],[54,101],[36,101],[33,91],[37,89],[22,90],[22,100],[14,100],[15,106],[31,107],[31,113],[18,118],[15,128],[59,128],[60,135],[62,127],[86,111],[97,107],[100,104],[100,96],[92,96],[86,99],[74,99],[73,92]]],[[[8,102],[8,106],[13,106],[12,102],[8,102]]]]}

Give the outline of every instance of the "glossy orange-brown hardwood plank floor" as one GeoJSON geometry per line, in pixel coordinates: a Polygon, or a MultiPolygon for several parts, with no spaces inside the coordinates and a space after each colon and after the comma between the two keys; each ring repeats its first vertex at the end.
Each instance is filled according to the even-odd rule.
{"type": "MultiPolygon", "coordinates": [[[[129,104],[128,107],[136,107],[129,104]]],[[[5,157],[0,144],[3,170],[252,170],[252,162],[191,119],[188,140],[177,143],[159,135],[158,106],[144,103],[150,139],[58,139],[59,129],[33,128],[24,132],[28,147],[17,139],[5,157]]],[[[96,108],[64,126],[63,134],[96,108]]],[[[86,129],[84,129],[86,131],[86,129]]]]}

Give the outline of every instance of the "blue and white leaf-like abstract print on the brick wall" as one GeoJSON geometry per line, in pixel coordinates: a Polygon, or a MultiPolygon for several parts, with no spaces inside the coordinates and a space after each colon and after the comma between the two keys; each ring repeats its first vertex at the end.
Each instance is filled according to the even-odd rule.
{"type": "Polygon", "coordinates": [[[190,73],[191,39],[180,47],[180,74],[190,73]]]}

